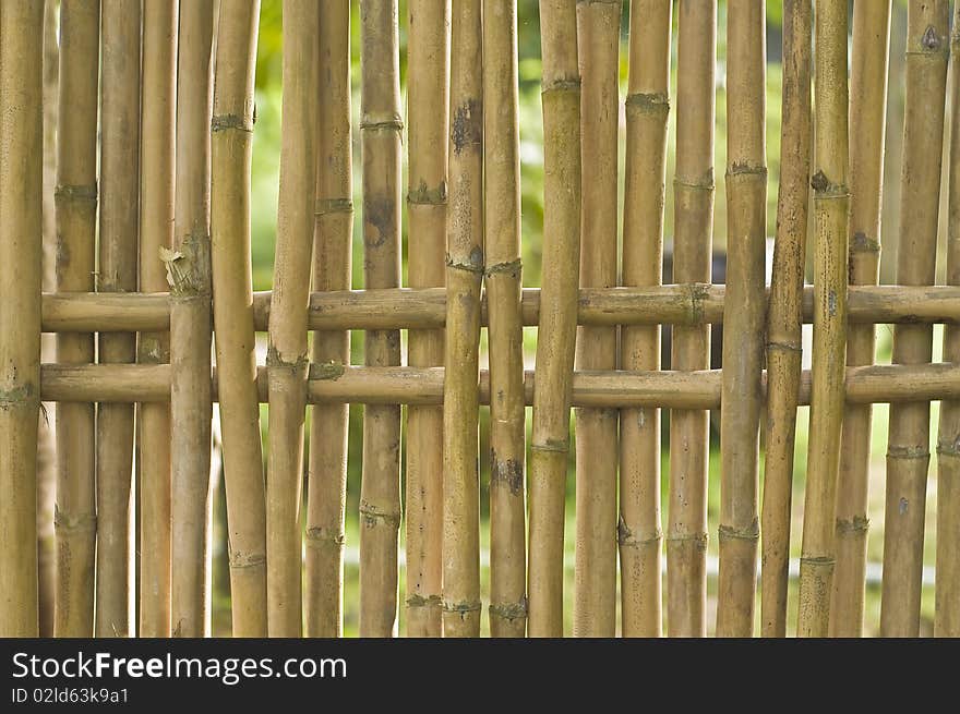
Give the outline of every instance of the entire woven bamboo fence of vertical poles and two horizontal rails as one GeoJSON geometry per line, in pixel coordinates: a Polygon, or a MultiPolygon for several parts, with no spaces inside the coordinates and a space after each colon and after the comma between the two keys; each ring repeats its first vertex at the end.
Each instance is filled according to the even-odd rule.
{"type": "Polygon", "coordinates": [[[929,404],[941,401],[934,633],[960,637],[960,111],[945,111],[960,106],[958,68],[948,84],[960,4],[951,39],[948,0],[909,2],[901,222],[888,227],[899,285],[881,286],[890,0],[857,0],[852,13],[847,0],[784,0],[766,290],[764,0],[725,5],[725,136],[715,135],[716,0],[632,0],[624,26],[621,0],[539,4],[542,286],[524,287],[520,261],[516,0],[408,0],[406,17],[397,0],[361,0],[352,125],[349,1],[284,0],[275,273],[273,290],[255,293],[257,0],[0,3],[0,634],[209,636],[218,403],[233,634],[341,636],[357,403],[361,636],[397,634],[400,607],[410,637],[477,637],[484,619],[493,637],[561,636],[573,537],[575,636],[706,634],[716,538],[717,634],[783,637],[796,414],[809,404],[797,634],[857,637],[871,406],[889,402],[880,634],[915,637],[929,404]],[[53,69],[56,94],[45,84],[53,69]],[[355,137],[362,290],[350,282],[355,137]],[[716,142],[727,144],[722,179],[716,142]],[[46,189],[45,153],[56,167],[46,189]],[[668,186],[673,285],[662,285],[668,186]],[[725,286],[710,275],[717,190],[727,196],[725,286]],[[941,191],[947,285],[935,286],[941,191]],[[808,234],[814,277],[804,286],[808,234]],[[56,255],[46,292],[45,251],[56,255]],[[709,326],[720,323],[723,367],[710,370],[709,326]],[[932,363],[937,323],[947,325],[943,363],[932,363]],[[873,364],[877,324],[896,326],[893,364],[873,364]],[[665,325],[671,371],[660,368],[665,325]],[[536,364],[525,371],[523,329],[535,326],[536,364]],[[364,332],[363,365],[350,364],[351,331],[364,332]],[[41,360],[44,332],[56,334],[53,360],[41,360]],[[264,364],[256,332],[268,335],[264,364]],[[53,513],[38,508],[38,424],[50,419],[41,401],[56,402],[53,513]],[[489,456],[479,451],[481,404],[489,456]],[[721,464],[710,473],[708,410],[718,408],[721,464]],[[576,527],[565,533],[571,450],[576,527]],[[708,532],[713,479],[720,525],[708,532]],[[36,547],[51,524],[52,572],[36,547]]]}

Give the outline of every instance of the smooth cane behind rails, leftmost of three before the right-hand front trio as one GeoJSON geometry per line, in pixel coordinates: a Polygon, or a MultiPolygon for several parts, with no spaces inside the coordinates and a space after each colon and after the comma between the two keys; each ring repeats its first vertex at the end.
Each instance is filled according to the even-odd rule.
{"type": "MultiPolygon", "coordinates": [[[[616,134],[620,123],[622,2],[577,3],[581,76],[580,285],[616,285],[616,134]]],[[[656,185],[656,184],[655,184],[656,185]]],[[[577,368],[616,367],[616,328],[580,327],[577,368]]],[[[576,412],[576,567],[574,636],[613,637],[616,629],[615,409],[576,412]]]]}

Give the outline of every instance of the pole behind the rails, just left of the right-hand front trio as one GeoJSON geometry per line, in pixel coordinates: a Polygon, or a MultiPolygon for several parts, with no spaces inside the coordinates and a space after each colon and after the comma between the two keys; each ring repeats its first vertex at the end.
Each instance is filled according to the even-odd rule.
{"type": "MultiPolygon", "coordinates": [[[[682,0],[676,59],[676,173],[673,178],[674,282],[710,282],[716,61],[717,3],[682,0]]],[[[674,325],[671,342],[671,368],[709,368],[708,325],[674,325]]],[[[656,367],[656,363],[651,362],[651,366],[656,367]]],[[[656,438],[659,439],[659,432],[656,438]]],[[[670,413],[667,533],[667,633],[671,637],[707,633],[709,449],[710,413],[674,409],[670,413]]],[[[659,484],[650,487],[657,493],[659,484]]]]}

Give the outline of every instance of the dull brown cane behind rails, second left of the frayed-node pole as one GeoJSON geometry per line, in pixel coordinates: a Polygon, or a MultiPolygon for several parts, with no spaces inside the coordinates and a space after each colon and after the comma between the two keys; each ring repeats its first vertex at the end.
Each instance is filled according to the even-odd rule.
{"type": "MultiPolygon", "coordinates": [[[[140,0],[104,0],[98,292],[136,290],[140,0]]],[[[100,363],[132,363],[135,335],[101,335],[100,363]]],[[[133,630],[133,406],[97,407],[96,636],[133,630]]]]}

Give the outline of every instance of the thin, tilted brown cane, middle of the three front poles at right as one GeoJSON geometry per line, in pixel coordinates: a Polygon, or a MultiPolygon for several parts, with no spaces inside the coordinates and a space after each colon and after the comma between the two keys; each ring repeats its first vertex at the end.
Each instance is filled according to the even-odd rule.
{"type": "Polygon", "coordinates": [[[783,123],[767,319],[767,434],[760,633],[787,636],[793,450],[800,391],[803,268],[809,206],[811,0],[783,7],[783,123]]]}

